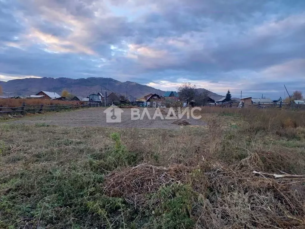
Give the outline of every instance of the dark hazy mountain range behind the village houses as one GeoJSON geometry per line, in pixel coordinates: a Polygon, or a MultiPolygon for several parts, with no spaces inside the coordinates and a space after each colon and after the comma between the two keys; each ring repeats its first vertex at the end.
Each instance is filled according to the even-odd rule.
{"type": "MultiPolygon", "coordinates": [[[[133,98],[141,98],[150,93],[164,95],[165,91],[142,85],[136,82],[126,81],[120,82],[113,78],[24,78],[14,79],[7,82],[0,81],[4,96],[23,96],[35,95],[40,91],[56,92],[61,94],[63,90],[67,90],[73,95],[86,97],[92,93],[106,92],[109,94],[115,92],[120,95],[133,98]]],[[[202,92],[203,88],[197,89],[202,92]]],[[[214,99],[220,99],[224,96],[210,92],[209,95],[214,99]]]]}

